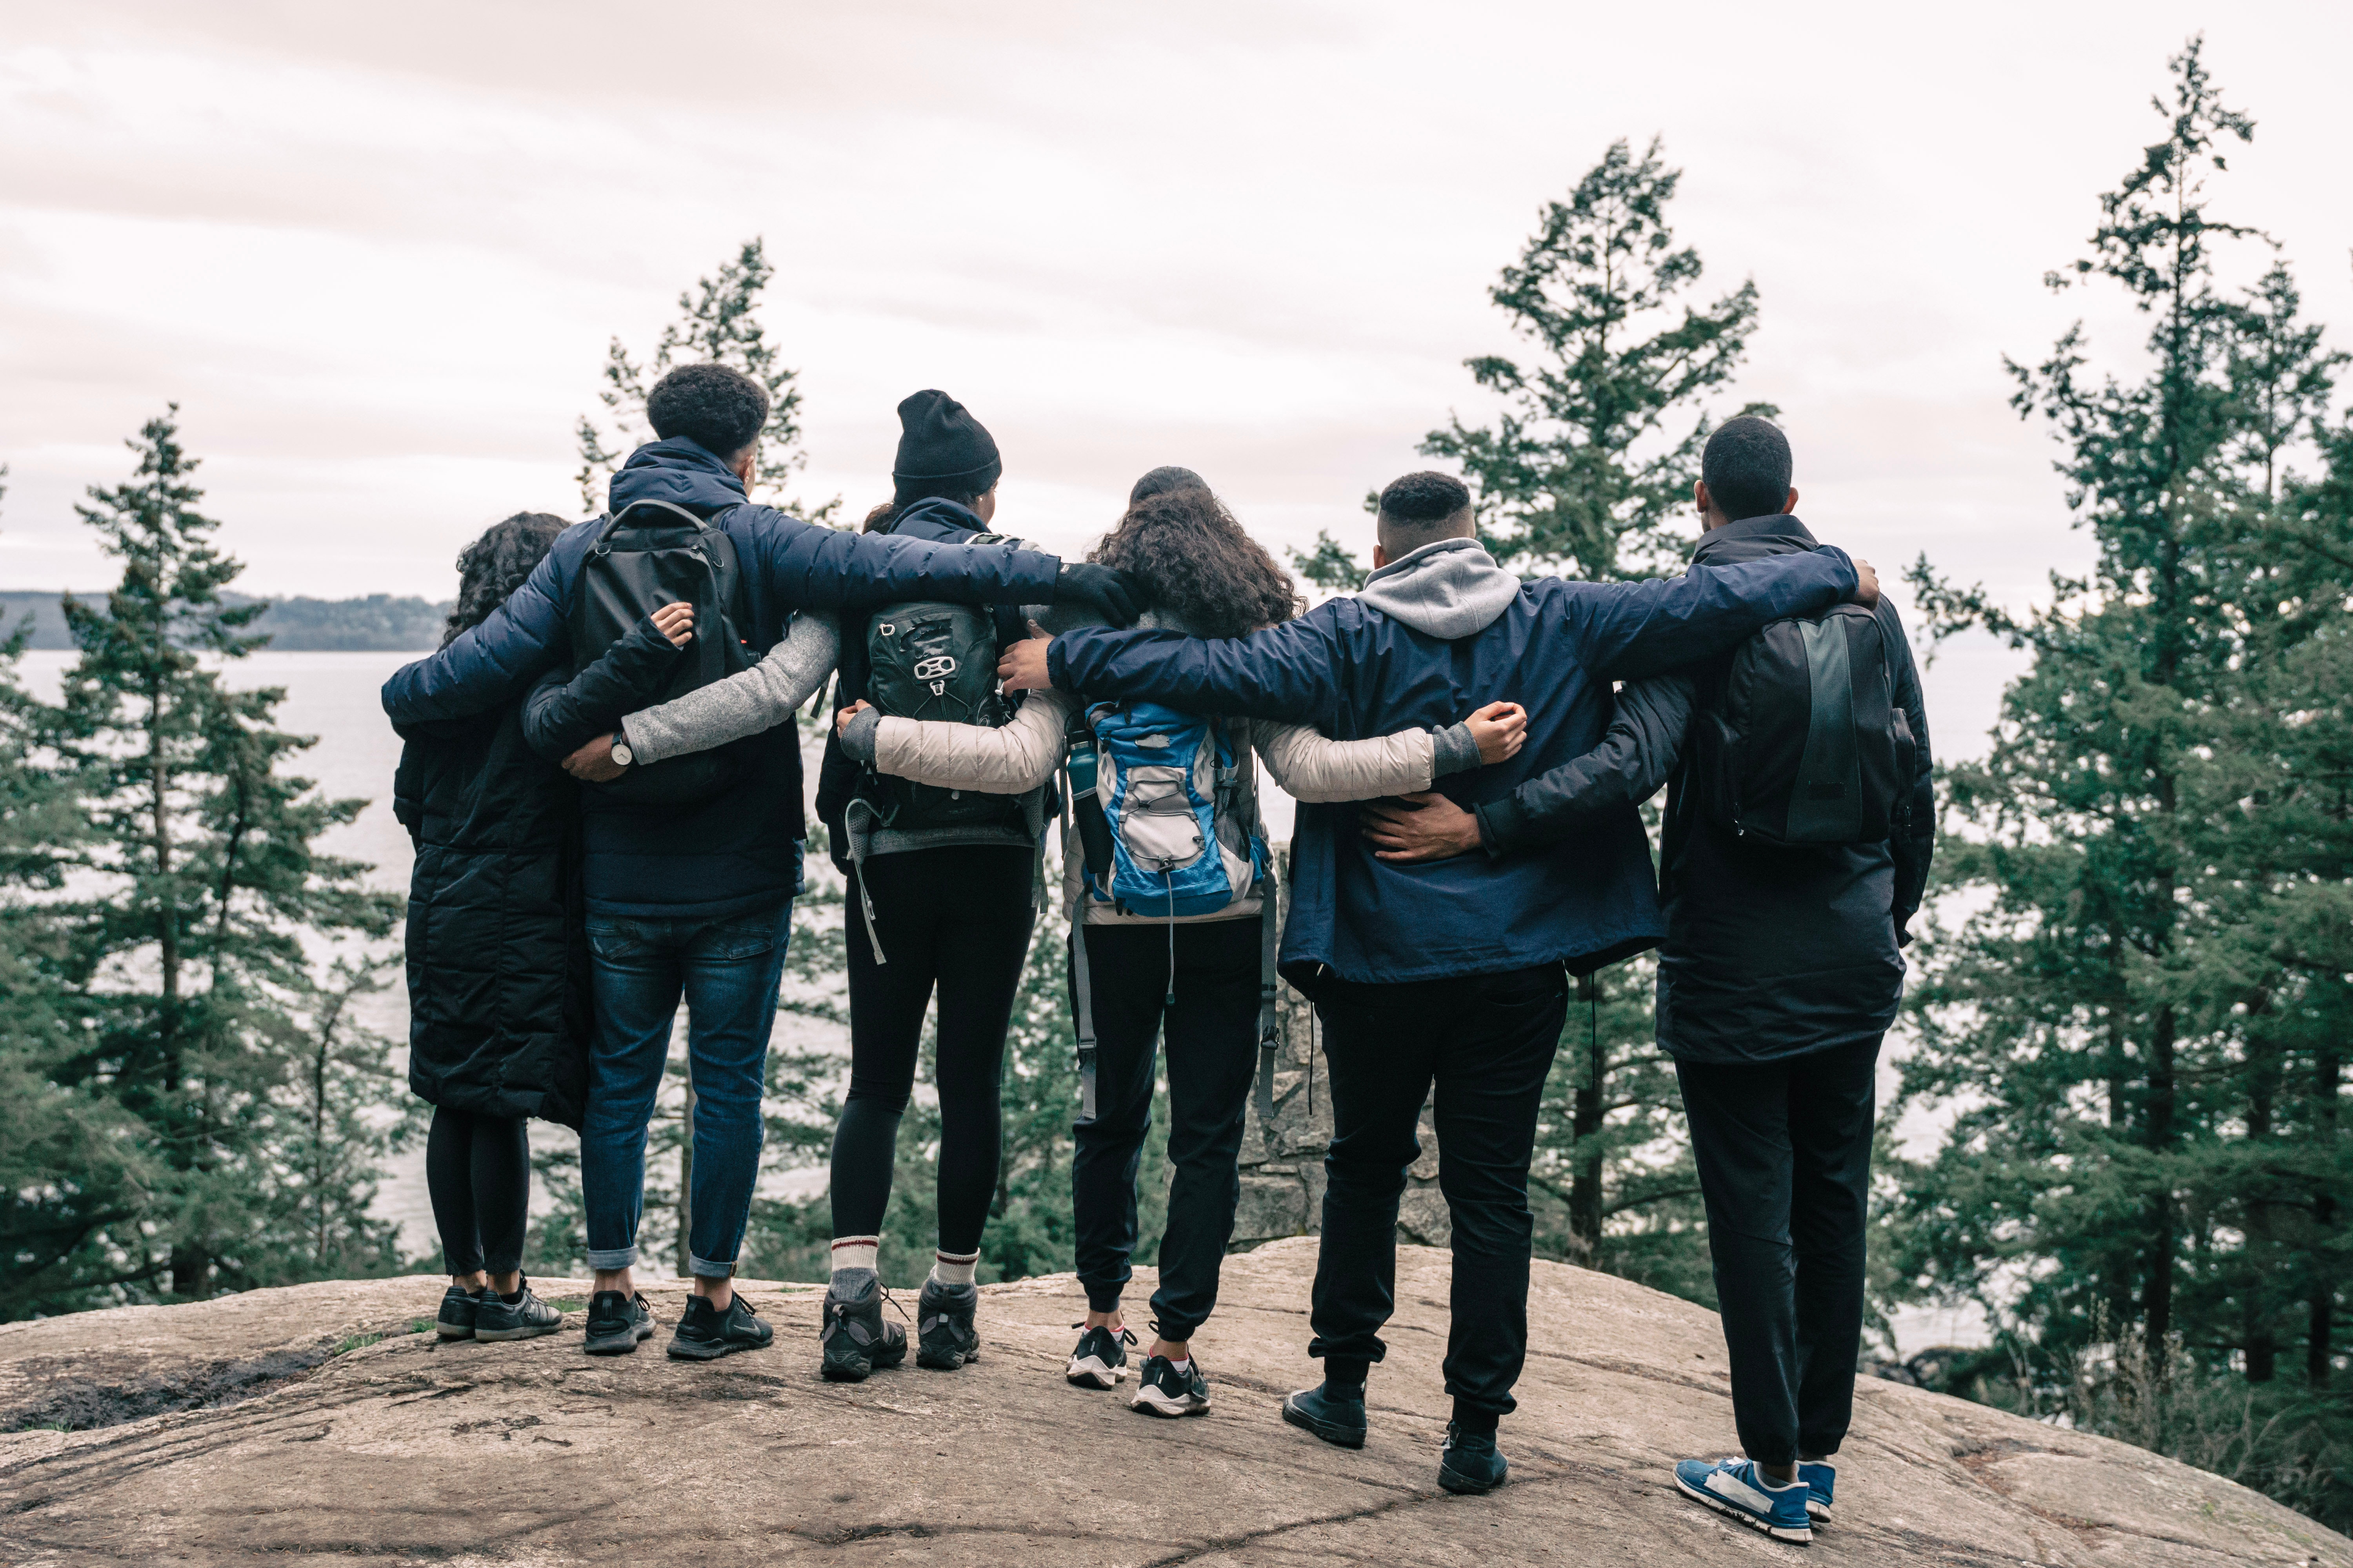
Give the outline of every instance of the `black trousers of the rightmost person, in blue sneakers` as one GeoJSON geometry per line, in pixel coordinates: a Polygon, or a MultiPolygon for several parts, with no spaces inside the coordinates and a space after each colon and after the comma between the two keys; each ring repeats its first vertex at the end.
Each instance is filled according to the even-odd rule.
{"type": "Polygon", "coordinates": [[[1675,1063],[1732,1354],[1760,1465],[1828,1458],[1854,1418],[1880,1041],[1777,1063],[1675,1063]]]}

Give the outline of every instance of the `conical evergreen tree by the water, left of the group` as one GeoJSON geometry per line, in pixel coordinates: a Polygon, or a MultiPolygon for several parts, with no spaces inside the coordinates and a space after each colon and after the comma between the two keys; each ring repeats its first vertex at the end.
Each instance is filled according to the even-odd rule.
{"type": "Polygon", "coordinates": [[[80,658],[40,741],[87,818],[64,860],[73,896],[52,905],[87,1018],[56,1077],[134,1117],[162,1178],[136,1215],[56,1262],[49,1288],[198,1298],[289,1276],[287,1070],[325,999],[313,945],[388,933],[398,900],[360,884],[365,865],[318,853],[365,802],[280,773],[311,745],[273,729],[285,693],[224,682],[261,642],[247,628],[266,604],[221,597],[240,567],[198,510],[176,407],[129,447],[134,477],[80,508],[122,583],[104,609],[66,599],[80,658]]]}

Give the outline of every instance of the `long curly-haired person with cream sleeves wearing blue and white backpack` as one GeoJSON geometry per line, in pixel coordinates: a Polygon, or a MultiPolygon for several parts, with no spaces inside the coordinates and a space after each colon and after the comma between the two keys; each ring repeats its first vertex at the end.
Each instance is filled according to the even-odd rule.
{"type": "MultiPolygon", "coordinates": [[[[1144,475],[1127,515],[1089,559],[1144,588],[1141,625],[1245,637],[1304,609],[1289,574],[1186,468],[1144,475]]],[[[864,703],[842,708],[835,724],[842,750],[878,773],[1019,795],[1061,764],[1075,712],[1096,715],[1085,698],[1035,691],[1002,729],[885,717],[864,703]]],[[[1522,741],[1518,710],[1501,703],[1464,724],[1346,743],[1306,724],[1212,724],[1238,762],[1254,750],[1275,783],[1299,799],[1334,802],[1428,790],[1435,776],[1504,759],[1522,741]]],[[[1257,780],[1247,762],[1238,788],[1233,820],[1257,837],[1257,780]]],[[[1219,827],[1224,839],[1226,820],[1219,827]]],[[[1235,863],[1264,860],[1245,844],[1235,863]]],[[[1271,877],[1271,867],[1261,877],[1271,877]]],[[[1134,1335],[1120,1298],[1136,1246],[1136,1178],[1165,1030],[1174,1180],[1160,1239],[1160,1288],[1151,1300],[1158,1338],[1129,1401],[1148,1415],[1209,1408],[1209,1382],[1191,1340],[1217,1305],[1219,1265],[1240,1201],[1235,1157],[1259,1058],[1266,891],[1264,879],[1238,886],[1240,896],[1209,914],[1139,914],[1111,898],[1108,872],[1096,867],[1089,877],[1075,844],[1064,846],[1073,978],[1085,973],[1087,980],[1073,985],[1073,1006],[1087,1011],[1096,1039],[1096,1105],[1078,1121],[1071,1166],[1087,1321],[1064,1375],[1092,1389],[1118,1387],[1127,1375],[1125,1347],[1134,1335]]]]}

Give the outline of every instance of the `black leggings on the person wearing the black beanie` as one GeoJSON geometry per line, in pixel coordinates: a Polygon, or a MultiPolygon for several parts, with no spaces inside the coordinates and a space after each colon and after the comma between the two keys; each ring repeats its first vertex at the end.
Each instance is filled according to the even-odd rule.
{"type": "Polygon", "coordinates": [[[998,844],[911,849],[866,860],[875,961],[849,889],[849,1098],[833,1131],[833,1234],[882,1232],[899,1117],[915,1091],[922,1016],[939,985],[939,1251],[981,1251],[998,1192],[998,1079],[1038,910],[1038,858],[998,844]]]}

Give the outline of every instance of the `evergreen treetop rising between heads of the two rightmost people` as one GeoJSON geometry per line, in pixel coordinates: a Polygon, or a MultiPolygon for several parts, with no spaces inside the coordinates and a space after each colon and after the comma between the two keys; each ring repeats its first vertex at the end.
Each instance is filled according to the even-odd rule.
{"type": "MultiPolygon", "coordinates": [[[[1593,581],[1680,569],[1668,520],[1689,505],[1713,418],[1699,402],[1732,381],[1758,327],[1758,289],[1715,303],[1682,294],[1699,252],[1675,247],[1666,207],[1680,169],[1614,141],[1565,202],[1546,202],[1520,259],[1489,289],[1539,360],[1466,360],[1508,409],[1494,425],[1449,418],[1421,451],[1471,482],[1499,562],[1593,581]],[[1682,418],[1694,423],[1685,430],[1682,418]]],[[[1772,414],[1748,404],[1744,414],[1772,414]]]]}

